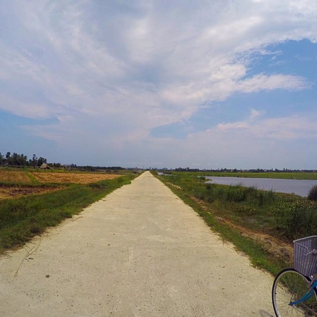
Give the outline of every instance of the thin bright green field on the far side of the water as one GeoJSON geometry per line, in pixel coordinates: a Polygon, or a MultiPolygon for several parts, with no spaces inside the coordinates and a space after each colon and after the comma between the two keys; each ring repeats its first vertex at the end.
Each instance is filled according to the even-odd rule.
{"type": "MultiPolygon", "coordinates": [[[[164,171],[164,173],[166,173],[164,171]]],[[[168,172],[169,173],[169,172],[168,172]]],[[[222,177],[250,177],[250,178],[281,178],[281,179],[317,179],[317,172],[176,172],[172,175],[192,175],[192,176],[222,176],[222,177]]]]}

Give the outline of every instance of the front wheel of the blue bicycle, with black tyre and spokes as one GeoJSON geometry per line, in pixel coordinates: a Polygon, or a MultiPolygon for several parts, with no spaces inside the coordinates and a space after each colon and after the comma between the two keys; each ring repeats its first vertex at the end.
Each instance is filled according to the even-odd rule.
{"type": "Polygon", "coordinates": [[[317,317],[317,293],[294,306],[295,302],[310,290],[311,279],[294,268],[285,268],[275,277],[272,287],[272,302],[276,317],[317,317]]]}

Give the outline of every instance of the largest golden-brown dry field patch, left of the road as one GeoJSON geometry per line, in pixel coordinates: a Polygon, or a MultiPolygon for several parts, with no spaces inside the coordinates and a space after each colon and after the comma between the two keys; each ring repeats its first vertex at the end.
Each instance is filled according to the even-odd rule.
{"type": "Polygon", "coordinates": [[[58,173],[58,172],[32,172],[36,180],[41,183],[75,183],[89,184],[104,179],[113,179],[122,175],[97,173],[58,173]]]}

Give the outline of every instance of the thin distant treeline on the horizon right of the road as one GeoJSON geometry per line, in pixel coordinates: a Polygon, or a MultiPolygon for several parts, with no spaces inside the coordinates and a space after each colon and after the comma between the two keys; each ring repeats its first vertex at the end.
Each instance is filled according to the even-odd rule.
{"type": "MultiPolygon", "coordinates": [[[[168,171],[172,169],[163,168],[163,171],[168,171]]],[[[199,169],[199,168],[189,168],[189,167],[178,167],[175,168],[174,171],[176,172],[244,172],[244,173],[269,173],[269,172],[281,172],[281,173],[290,173],[290,172],[316,172],[316,169],[263,169],[263,168],[257,168],[257,169],[237,169],[237,168],[217,168],[217,169],[199,169]]]]}

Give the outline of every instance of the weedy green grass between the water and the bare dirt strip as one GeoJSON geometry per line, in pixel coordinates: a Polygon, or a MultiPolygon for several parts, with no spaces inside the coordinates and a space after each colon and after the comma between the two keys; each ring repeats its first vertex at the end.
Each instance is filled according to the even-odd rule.
{"type": "Polygon", "coordinates": [[[292,242],[317,232],[317,202],[293,194],[274,193],[241,185],[205,183],[203,177],[162,176],[167,182],[204,201],[216,216],[292,242]]]}

